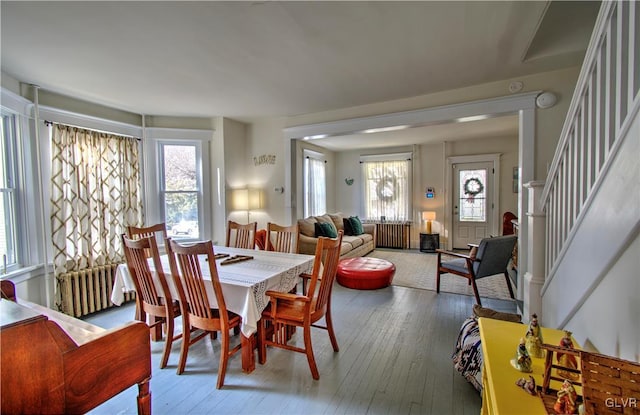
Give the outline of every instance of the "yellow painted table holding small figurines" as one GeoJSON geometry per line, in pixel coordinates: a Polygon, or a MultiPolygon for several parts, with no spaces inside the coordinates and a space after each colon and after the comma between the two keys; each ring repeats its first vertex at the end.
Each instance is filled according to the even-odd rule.
{"type": "MultiPolygon", "coordinates": [[[[522,377],[528,379],[532,375],[536,386],[542,385],[544,358],[532,357],[533,373],[523,373],[511,366],[511,359],[516,356],[516,348],[520,338],[527,332],[527,325],[507,321],[480,318],[480,339],[482,341],[482,414],[527,415],[546,414],[539,396],[526,393],[516,381],[522,377]]],[[[562,330],[542,327],[542,338],[545,343],[558,345],[564,336],[562,330]]],[[[574,341],[574,345],[576,345],[574,341]]],[[[576,348],[578,346],[576,345],[576,348]]],[[[551,388],[559,389],[559,382],[552,381],[551,388]]],[[[576,392],[581,394],[579,387],[576,392]]]]}

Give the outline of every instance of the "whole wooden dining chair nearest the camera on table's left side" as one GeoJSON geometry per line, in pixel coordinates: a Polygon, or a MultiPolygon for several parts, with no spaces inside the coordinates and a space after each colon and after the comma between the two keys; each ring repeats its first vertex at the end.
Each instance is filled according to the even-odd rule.
{"type": "Polygon", "coordinates": [[[207,333],[211,334],[211,338],[214,339],[216,332],[219,331],[221,346],[216,388],[220,389],[224,384],[229,358],[238,352],[242,346],[242,344],[238,344],[230,349],[229,330],[240,327],[242,320],[240,316],[227,310],[211,241],[183,246],[169,240],[166,245],[171,275],[179,293],[182,307],[183,338],[178,374],[184,372],[189,346],[204,338],[207,333]],[[200,262],[200,260],[205,262],[200,262]],[[211,308],[202,274],[202,264],[206,264],[209,267],[213,294],[216,297],[218,308],[211,308]],[[179,270],[178,266],[180,267],[179,270]],[[203,330],[203,333],[192,339],[192,329],[203,330]]]}

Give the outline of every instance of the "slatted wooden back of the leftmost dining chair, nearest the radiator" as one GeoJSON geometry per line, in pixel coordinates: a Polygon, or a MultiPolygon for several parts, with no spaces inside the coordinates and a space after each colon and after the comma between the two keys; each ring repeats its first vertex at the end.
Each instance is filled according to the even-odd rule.
{"type": "Polygon", "coordinates": [[[161,306],[163,304],[163,300],[156,289],[153,272],[151,271],[151,267],[149,267],[147,252],[150,252],[157,279],[164,291],[164,297],[166,301],[170,303],[172,301],[171,292],[169,291],[166,276],[162,269],[155,236],[130,239],[122,235],[122,246],[124,247],[127,267],[129,268],[130,274],[134,277],[136,291],[142,301],[155,306],[161,306]]]}

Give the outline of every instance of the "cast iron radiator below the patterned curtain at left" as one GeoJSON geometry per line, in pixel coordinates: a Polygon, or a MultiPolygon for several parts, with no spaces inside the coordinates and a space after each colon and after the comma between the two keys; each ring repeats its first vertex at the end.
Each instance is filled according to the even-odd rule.
{"type": "MultiPolygon", "coordinates": [[[[118,265],[101,265],[58,275],[60,311],[81,317],[114,307],[111,290],[118,265]]],[[[125,294],[125,301],[133,299],[134,293],[125,294]]]]}

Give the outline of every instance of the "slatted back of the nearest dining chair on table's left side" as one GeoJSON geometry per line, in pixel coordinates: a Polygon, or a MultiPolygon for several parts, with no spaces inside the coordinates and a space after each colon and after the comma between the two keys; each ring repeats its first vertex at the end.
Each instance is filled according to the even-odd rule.
{"type": "MultiPolygon", "coordinates": [[[[222,294],[222,286],[218,277],[213,244],[211,241],[198,242],[188,246],[180,245],[176,241],[169,240],[167,243],[171,273],[176,286],[182,287],[181,295],[189,306],[189,314],[202,319],[214,318],[209,295],[207,294],[204,278],[202,274],[202,260],[207,263],[215,295],[220,310],[220,319],[227,325],[227,307],[222,294]],[[179,269],[176,266],[179,265],[179,269]]],[[[217,318],[217,317],[216,317],[217,318]]]]}

